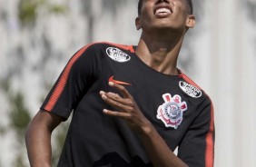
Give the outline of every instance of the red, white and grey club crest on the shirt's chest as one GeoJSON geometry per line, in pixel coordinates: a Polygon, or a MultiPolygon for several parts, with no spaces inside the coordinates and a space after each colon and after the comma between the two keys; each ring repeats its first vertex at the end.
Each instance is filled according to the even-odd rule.
{"type": "Polygon", "coordinates": [[[182,97],[175,94],[173,97],[170,93],[162,95],[164,103],[158,107],[156,117],[162,120],[166,127],[177,129],[182,123],[183,112],[188,109],[187,103],[182,102],[182,97]]]}

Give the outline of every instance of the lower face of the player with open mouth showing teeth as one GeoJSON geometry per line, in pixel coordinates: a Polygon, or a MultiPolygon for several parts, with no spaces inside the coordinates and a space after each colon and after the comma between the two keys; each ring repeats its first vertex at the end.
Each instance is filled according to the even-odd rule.
{"type": "Polygon", "coordinates": [[[189,19],[185,0],[143,0],[141,15],[137,18],[136,25],[146,32],[186,30],[189,19]]]}

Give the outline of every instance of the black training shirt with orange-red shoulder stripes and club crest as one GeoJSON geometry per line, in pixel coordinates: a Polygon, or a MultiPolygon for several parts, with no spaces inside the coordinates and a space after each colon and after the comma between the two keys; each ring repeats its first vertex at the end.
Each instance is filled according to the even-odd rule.
{"type": "Polygon", "coordinates": [[[172,151],[190,167],[212,167],[213,108],[210,98],[190,78],[154,71],[135,54],[134,46],[98,43],[84,46],[70,59],[41,109],[67,119],[60,167],[153,166],[138,136],[99,92],[115,92],[109,81],[133,95],[145,117],[172,151]]]}

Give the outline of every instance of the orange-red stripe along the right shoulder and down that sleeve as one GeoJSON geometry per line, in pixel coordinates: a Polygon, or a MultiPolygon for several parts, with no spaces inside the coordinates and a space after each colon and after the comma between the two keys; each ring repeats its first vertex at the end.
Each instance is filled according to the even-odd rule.
{"type": "MultiPolygon", "coordinates": [[[[201,89],[202,88],[194,83],[191,78],[189,78],[187,75],[182,74],[182,78],[187,82],[192,84],[193,86],[196,86],[197,88],[201,89]]],[[[207,95],[207,94],[206,94],[207,95]]],[[[209,97],[209,95],[207,95],[209,97]]],[[[210,98],[210,97],[209,97],[210,98]]],[[[214,132],[214,112],[213,112],[213,105],[212,105],[212,100],[211,101],[211,121],[210,121],[210,127],[209,131],[206,134],[205,137],[205,167],[213,167],[214,164],[214,139],[213,139],[213,132],[214,132]]]]}

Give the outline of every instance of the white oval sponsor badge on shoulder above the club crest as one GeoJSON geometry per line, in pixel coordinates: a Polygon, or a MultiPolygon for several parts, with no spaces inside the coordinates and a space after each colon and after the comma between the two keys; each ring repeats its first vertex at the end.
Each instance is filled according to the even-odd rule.
{"type": "Polygon", "coordinates": [[[188,94],[193,98],[199,98],[202,96],[202,91],[196,88],[195,86],[193,86],[192,84],[186,83],[184,81],[180,81],[179,85],[184,93],[188,94]]]}

